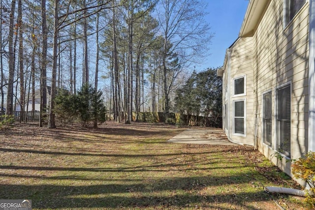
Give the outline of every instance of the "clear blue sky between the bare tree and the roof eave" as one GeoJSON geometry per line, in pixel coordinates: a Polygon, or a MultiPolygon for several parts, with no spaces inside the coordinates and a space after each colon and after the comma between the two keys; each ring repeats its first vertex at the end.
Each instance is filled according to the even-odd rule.
{"type": "MultiPolygon", "coordinates": [[[[206,20],[215,33],[210,46],[211,55],[201,65],[207,67],[223,65],[225,51],[238,38],[249,0],[206,0],[208,2],[206,20]]],[[[198,68],[196,66],[196,68],[198,68]]]]}

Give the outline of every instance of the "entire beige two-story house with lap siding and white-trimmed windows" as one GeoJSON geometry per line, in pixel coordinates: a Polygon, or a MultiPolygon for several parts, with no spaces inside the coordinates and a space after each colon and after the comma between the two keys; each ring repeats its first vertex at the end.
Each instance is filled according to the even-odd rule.
{"type": "Polygon", "coordinates": [[[291,175],[315,150],[315,0],[250,0],[223,67],[223,129],[291,175]],[[279,152],[284,158],[275,157],[279,152]]]}

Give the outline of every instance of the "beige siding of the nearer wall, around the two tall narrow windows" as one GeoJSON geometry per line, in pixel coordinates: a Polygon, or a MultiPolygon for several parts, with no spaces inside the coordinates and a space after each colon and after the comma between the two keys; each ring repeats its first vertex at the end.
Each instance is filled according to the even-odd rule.
{"type": "MultiPolygon", "coordinates": [[[[256,84],[253,90],[257,93],[253,107],[260,113],[261,124],[262,93],[272,90],[272,148],[262,143],[262,127],[258,129],[258,149],[270,157],[276,148],[277,87],[291,84],[291,158],[296,158],[307,151],[308,142],[309,3],[284,28],[283,2],[271,0],[253,35],[253,82],[256,84]]],[[[288,164],[283,161],[279,166],[290,174],[288,164]]]]}

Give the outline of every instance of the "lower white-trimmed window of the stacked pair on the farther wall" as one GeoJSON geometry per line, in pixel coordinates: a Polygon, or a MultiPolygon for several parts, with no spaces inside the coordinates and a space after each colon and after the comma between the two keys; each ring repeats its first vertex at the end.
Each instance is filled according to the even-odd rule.
{"type": "Polygon", "coordinates": [[[245,100],[234,101],[234,134],[245,134],[245,100]]]}

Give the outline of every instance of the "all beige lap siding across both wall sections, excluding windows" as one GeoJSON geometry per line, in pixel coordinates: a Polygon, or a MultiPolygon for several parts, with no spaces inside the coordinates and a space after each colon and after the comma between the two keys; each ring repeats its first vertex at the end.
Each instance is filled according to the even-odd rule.
{"type": "MultiPolygon", "coordinates": [[[[228,118],[233,120],[233,102],[246,103],[246,135],[235,135],[230,123],[229,138],[237,143],[253,145],[270,157],[276,150],[277,139],[277,92],[280,87],[290,86],[290,151],[289,158],[298,158],[308,150],[309,106],[309,2],[284,26],[284,0],[270,0],[263,16],[254,29],[252,37],[239,37],[229,48],[230,60],[225,62],[225,88],[229,90],[224,99],[228,103],[228,118]],[[246,94],[233,94],[233,79],[246,76],[246,94]],[[263,144],[262,103],[263,94],[272,95],[272,146],[263,144]],[[256,113],[258,122],[255,125],[256,113]],[[257,135],[254,136],[257,127],[257,135]]],[[[224,91],[224,94],[226,92],[224,91]]],[[[288,119],[288,118],[287,118],[288,119]]],[[[282,140],[283,141],[283,140],[282,140]]],[[[289,175],[290,162],[272,160],[289,175]]]]}

